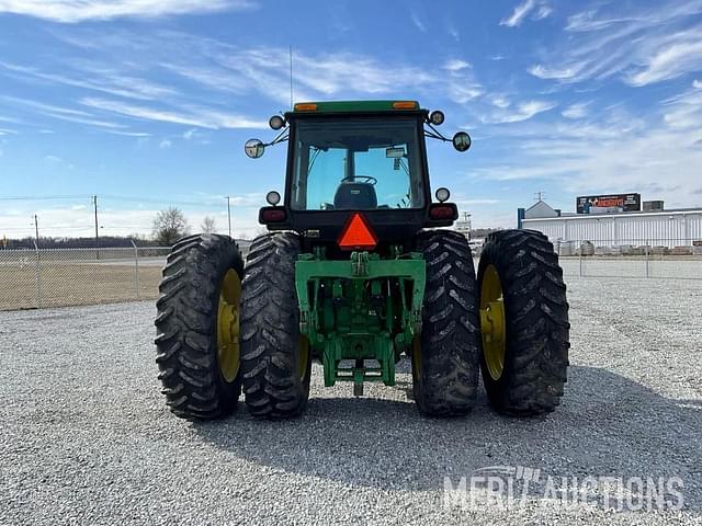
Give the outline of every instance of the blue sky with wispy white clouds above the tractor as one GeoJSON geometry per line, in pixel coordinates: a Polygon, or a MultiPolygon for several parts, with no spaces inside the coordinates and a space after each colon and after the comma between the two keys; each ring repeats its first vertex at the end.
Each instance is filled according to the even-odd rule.
{"type": "Polygon", "coordinates": [[[253,235],[295,100],[418,99],[467,129],[431,142],[434,187],[477,226],[543,191],[702,205],[702,0],[0,0],[0,236],[150,231],[177,204],[253,235]],[[23,201],[9,197],[44,197],[23,201]],[[61,196],[65,198],[46,198],[61,196]]]}

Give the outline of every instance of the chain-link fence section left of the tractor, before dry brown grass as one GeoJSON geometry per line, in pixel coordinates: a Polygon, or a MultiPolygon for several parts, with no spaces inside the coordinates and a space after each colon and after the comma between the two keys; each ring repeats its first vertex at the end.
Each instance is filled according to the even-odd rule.
{"type": "Polygon", "coordinates": [[[0,310],[155,299],[169,251],[0,250],[0,310]]]}

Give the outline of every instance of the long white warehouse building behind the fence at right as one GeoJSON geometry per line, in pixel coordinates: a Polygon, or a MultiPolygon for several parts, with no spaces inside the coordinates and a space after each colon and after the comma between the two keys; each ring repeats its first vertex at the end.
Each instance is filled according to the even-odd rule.
{"type": "Polygon", "coordinates": [[[702,248],[702,208],[562,215],[540,201],[523,210],[520,228],[539,230],[556,245],[702,248]],[[522,217],[523,216],[523,217],[522,217]]]}

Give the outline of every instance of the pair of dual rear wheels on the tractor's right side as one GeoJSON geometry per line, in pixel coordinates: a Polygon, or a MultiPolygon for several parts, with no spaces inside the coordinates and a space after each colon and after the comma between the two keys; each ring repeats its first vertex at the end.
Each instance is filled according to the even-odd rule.
{"type": "Polygon", "coordinates": [[[412,346],[420,412],[469,412],[478,369],[499,413],[554,411],[567,379],[570,324],[563,271],[548,239],[531,230],[490,235],[477,282],[467,241],[456,232],[422,232],[418,250],[427,262],[422,332],[412,346]]]}

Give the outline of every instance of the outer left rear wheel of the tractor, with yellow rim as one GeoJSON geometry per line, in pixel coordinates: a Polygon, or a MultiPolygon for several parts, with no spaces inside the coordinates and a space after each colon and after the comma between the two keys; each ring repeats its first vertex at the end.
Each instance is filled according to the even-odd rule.
{"type": "Polygon", "coordinates": [[[239,249],[226,236],[189,236],[168,255],[155,343],[161,392],[177,416],[216,419],[237,405],[242,276],[239,249]]]}

